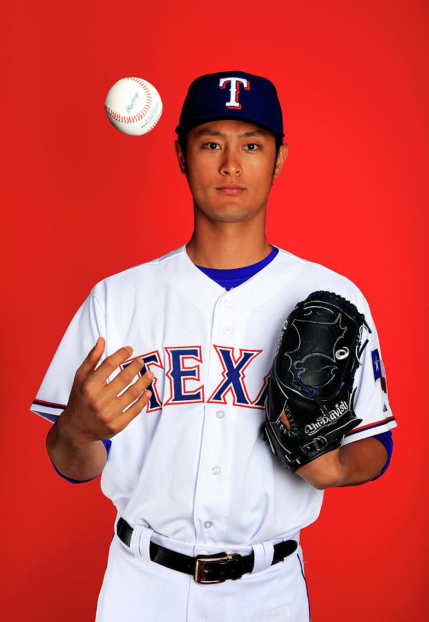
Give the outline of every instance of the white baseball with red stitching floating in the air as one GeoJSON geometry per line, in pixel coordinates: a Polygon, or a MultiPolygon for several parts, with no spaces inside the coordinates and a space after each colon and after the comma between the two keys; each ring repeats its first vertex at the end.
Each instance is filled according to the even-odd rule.
{"type": "Polygon", "coordinates": [[[133,136],[151,131],[162,115],[162,101],[155,86],[142,78],[122,78],[113,84],[104,103],[108,120],[133,136]]]}

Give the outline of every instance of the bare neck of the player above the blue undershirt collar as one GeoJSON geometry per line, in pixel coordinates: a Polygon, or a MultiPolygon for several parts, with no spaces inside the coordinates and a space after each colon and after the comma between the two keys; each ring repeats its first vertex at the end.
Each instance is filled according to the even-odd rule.
{"type": "Polygon", "coordinates": [[[201,267],[231,270],[262,261],[272,246],[265,236],[265,219],[262,223],[225,223],[199,219],[187,254],[191,261],[201,267]]]}

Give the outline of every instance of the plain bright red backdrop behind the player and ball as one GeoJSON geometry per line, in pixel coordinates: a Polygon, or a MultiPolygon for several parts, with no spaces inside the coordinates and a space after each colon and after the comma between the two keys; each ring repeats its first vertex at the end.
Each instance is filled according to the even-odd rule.
{"type": "Polygon", "coordinates": [[[93,620],[113,507],[98,480],[57,477],[48,424],[28,408],[90,288],[189,239],[173,153],[180,107],[194,77],[240,68],[272,79],[283,104],[289,157],[269,241],[361,288],[399,422],[387,473],[327,491],[303,533],[312,619],[426,620],[428,4],[17,7],[3,12],[1,37],[3,619],[93,620]],[[104,113],[127,75],[164,103],[141,138],[104,113]]]}

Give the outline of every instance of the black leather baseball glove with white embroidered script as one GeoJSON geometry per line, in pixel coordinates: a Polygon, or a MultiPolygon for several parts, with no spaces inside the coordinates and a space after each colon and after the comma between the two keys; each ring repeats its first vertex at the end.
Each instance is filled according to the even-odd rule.
{"type": "Polygon", "coordinates": [[[313,292],[280,332],[265,400],[265,434],[289,471],[341,446],[362,420],[353,411],[354,375],[370,331],[342,296],[313,292]],[[289,426],[280,421],[283,411],[289,426]]]}

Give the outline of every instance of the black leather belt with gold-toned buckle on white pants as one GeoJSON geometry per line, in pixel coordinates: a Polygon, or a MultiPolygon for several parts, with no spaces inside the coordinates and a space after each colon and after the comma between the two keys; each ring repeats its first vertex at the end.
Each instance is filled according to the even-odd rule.
{"type": "MultiPolygon", "coordinates": [[[[133,527],[123,518],[117,521],[116,533],[127,547],[131,544],[133,527]]],[[[271,566],[283,561],[285,557],[292,555],[298,548],[295,540],[285,540],[274,545],[274,554],[271,566]]],[[[243,574],[251,572],[254,568],[255,554],[252,551],[249,555],[241,553],[216,553],[209,555],[198,555],[190,557],[171,551],[154,542],[149,544],[149,554],[151,560],[157,564],[191,574],[197,583],[223,583],[227,579],[238,579],[243,574]]]]}

